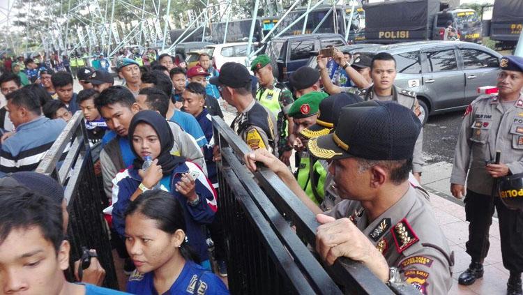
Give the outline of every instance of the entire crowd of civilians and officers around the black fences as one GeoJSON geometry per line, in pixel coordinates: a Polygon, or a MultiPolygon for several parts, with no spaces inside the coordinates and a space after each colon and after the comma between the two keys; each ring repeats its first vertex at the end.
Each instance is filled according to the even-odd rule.
{"type": "MultiPolygon", "coordinates": [[[[209,54],[189,69],[151,50],[139,60],[130,50],[118,55],[121,85],[103,55],[97,66],[78,66],[73,56],[69,70],[26,59],[26,85],[13,68],[0,76],[7,101],[0,109],[0,283],[7,293],[40,288],[46,290],[40,294],[119,294],[95,286],[103,282],[97,263],[84,270],[81,282],[66,282],[63,188],[33,172],[79,111],[89,144],[101,146],[95,174],[110,204],[103,213],[111,215],[126,292],[228,294],[219,277],[227,276],[224,227],[232,225],[219,218],[221,153],[212,125],[212,116],[223,118],[225,105],[236,109],[231,128],[252,149],[246,167],[254,172],[263,163],[317,214],[321,259],[333,264],[349,257],[383,282],[396,271],[423,294],[448,293],[453,252],[420,186],[428,114],[416,93],[393,84],[393,56],[319,54],[317,68],[298,68],[287,84],[273,76],[265,54],[250,70],[229,62],[220,71],[209,54]],[[73,91],[75,78],[79,93],[73,91]]],[[[485,206],[493,178],[522,172],[522,58],[503,57],[497,86],[497,96],[480,97],[467,108],[456,148],[451,190],[455,197],[465,195],[469,174],[465,211],[472,257],[459,282],[470,285],[483,276],[496,206],[508,294],[522,294],[522,216],[499,198],[485,206]],[[496,149],[503,149],[501,163],[485,166],[496,149]]]]}

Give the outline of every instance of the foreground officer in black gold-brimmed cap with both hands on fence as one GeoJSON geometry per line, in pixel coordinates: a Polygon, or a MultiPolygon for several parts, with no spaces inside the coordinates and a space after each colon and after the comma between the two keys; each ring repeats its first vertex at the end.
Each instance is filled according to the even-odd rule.
{"type": "Polygon", "coordinates": [[[308,143],[312,155],[331,160],[329,172],[343,198],[326,215],[296,189],[287,167],[267,151],[249,153],[245,162],[252,170],[255,161],[263,162],[319,213],[316,249],[328,264],[349,257],[384,282],[389,280],[389,267],[394,267],[404,282],[423,294],[447,294],[453,260],[446,237],[427,192],[408,181],[420,128],[418,117],[397,103],[367,101],[343,107],[335,132],[308,143]]]}

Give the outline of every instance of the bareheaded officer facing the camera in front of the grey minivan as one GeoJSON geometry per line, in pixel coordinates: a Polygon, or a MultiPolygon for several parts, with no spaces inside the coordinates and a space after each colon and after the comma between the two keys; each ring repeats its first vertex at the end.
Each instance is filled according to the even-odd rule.
{"type": "MultiPolygon", "coordinates": [[[[370,75],[372,77],[372,86],[367,89],[353,89],[349,93],[361,96],[363,100],[393,100],[404,107],[407,107],[418,116],[423,122],[425,116],[423,108],[420,107],[416,92],[407,91],[394,86],[396,78],[396,61],[391,54],[380,52],[372,57],[370,66],[370,75]]],[[[412,174],[420,182],[423,157],[421,150],[423,146],[423,127],[421,128],[416,147],[414,149],[414,160],[412,161],[412,174]]]]}

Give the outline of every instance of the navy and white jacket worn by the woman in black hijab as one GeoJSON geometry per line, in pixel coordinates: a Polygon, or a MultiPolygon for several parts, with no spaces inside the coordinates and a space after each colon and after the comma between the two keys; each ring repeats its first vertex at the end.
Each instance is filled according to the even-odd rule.
{"type": "MultiPolygon", "coordinates": [[[[116,186],[113,186],[113,195],[117,195],[118,199],[114,203],[112,210],[112,225],[120,236],[125,236],[126,220],[124,213],[129,206],[130,197],[137,190],[142,178],[139,176],[137,169],[129,168],[119,174],[116,174],[116,186]]],[[[185,226],[187,227],[187,234],[189,245],[198,253],[201,261],[209,259],[207,252],[206,236],[202,230],[202,225],[209,225],[214,220],[214,214],[218,209],[216,205],[216,192],[209,180],[205,177],[204,172],[196,164],[192,162],[184,162],[179,164],[171,175],[170,191],[171,195],[178,199],[183,207],[185,215],[185,226]],[[175,184],[181,180],[181,174],[189,171],[199,172],[199,177],[196,180],[196,193],[200,198],[200,202],[196,206],[191,206],[187,202],[187,198],[174,190],[175,184]]],[[[165,187],[162,187],[164,189],[165,187]]]]}

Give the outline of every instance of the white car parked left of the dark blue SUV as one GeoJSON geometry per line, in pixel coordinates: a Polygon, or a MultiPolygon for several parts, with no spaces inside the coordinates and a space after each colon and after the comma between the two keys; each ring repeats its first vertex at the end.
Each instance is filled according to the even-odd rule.
{"type": "MultiPolygon", "coordinates": [[[[224,63],[234,61],[245,64],[247,58],[248,42],[213,44],[205,47],[206,52],[212,57],[215,68],[220,70],[224,63]]],[[[256,50],[258,43],[252,43],[252,49],[256,50]]]]}

